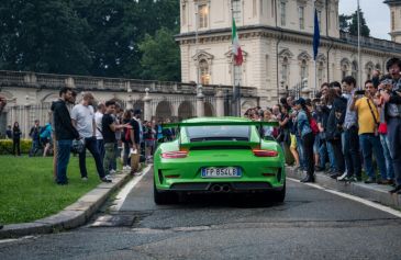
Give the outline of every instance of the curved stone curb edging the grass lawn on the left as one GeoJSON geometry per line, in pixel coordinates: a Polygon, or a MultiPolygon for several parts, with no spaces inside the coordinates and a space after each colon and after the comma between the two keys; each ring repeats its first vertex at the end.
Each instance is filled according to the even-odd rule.
{"type": "MultiPolygon", "coordinates": [[[[145,169],[146,168],[142,169],[142,171],[145,169]]],[[[124,185],[130,180],[130,177],[131,174],[126,172],[115,174],[112,183],[100,183],[77,202],[65,207],[55,215],[31,223],[4,225],[3,228],[0,229],[0,239],[49,234],[57,230],[79,227],[87,223],[108,200],[109,195],[124,185]]]]}

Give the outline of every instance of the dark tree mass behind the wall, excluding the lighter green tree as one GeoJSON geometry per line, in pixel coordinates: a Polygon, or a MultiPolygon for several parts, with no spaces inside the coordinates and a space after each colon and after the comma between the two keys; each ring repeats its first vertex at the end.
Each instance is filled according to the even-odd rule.
{"type": "Polygon", "coordinates": [[[179,1],[1,0],[0,18],[0,69],[141,78],[138,46],[178,30],[179,1]]]}

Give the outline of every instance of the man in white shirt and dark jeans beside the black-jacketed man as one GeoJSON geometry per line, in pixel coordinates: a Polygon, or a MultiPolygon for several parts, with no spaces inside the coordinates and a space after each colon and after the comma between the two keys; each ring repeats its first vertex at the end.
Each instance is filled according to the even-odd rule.
{"type": "Polygon", "coordinates": [[[74,106],[71,111],[73,125],[77,128],[80,137],[85,140],[85,149],[79,154],[79,170],[82,180],[88,180],[88,172],[86,166],[86,150],[88,149],[92,154],[98,174],[103,182],[111,182],[109,176],[104,176],[104,169],[102,159],[98,150],[96,138],[96,121],[93,111],[93,95],[90,92],[83,94],[83,99],[80,104],[74,106]]]}

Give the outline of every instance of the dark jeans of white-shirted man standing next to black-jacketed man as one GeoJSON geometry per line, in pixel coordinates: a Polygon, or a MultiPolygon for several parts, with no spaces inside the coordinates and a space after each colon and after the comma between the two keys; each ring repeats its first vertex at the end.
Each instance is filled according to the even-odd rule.
{"type": "Polygon", "coordinates": [[[79,170],[81,172],[81,177],[88,178],[87,161],[86,161],[87,149],[90,151],[90,154],[92,154],[96,168],[98,170],[98,174],[100,179],[102,179],[104,177],[104,169],[98,150],[96,137],[85,138],[85,149],[82,152],[79,154],[79,170]]]}

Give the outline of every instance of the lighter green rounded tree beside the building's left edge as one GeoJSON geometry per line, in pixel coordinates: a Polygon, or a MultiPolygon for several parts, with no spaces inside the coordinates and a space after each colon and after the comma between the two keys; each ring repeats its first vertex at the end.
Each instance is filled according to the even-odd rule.
{"type": "Polygon", "coordinates": [[[180,81],[180,52],[172,31],[163,27],[155,36],[147,34],[138,46],[143,78],[180,81]]]}

